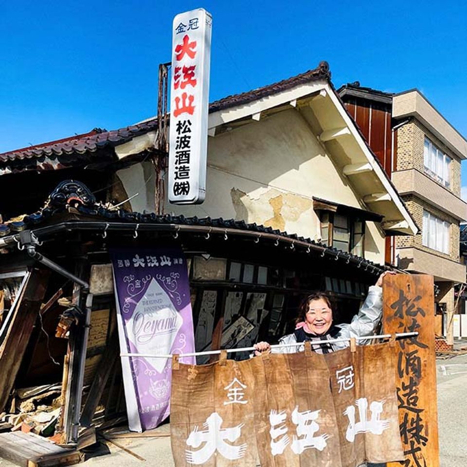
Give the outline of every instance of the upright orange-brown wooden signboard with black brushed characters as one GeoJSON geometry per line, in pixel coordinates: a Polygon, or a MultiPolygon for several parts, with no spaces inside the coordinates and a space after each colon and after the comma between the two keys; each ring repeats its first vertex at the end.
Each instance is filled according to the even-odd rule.
{"type": "Polygon", "coordinates": [[[383,283],[385,333],[418,331],[397,342],[397,401],[405,463],[439,467],[433,277],[397,274],[383,283]]]}

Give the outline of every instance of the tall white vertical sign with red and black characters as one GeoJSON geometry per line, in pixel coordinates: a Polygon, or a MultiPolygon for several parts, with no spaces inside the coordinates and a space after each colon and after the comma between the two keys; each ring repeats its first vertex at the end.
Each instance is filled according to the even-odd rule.
{"type": "Polygon", "coordinates": [[[180,13],[172,26],[169,201],[200,204],[206,192],[212,17],[180,13]]]}

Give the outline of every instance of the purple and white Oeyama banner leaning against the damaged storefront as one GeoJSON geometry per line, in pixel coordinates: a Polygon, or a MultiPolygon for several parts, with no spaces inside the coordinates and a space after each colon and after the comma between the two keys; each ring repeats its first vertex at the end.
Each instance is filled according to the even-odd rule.
{"type": "MultiPolygon", "coordinates": [[[[110,256],[121,352],[194,352],[190,287],[182,251],[113,249],[110,256]]],[[[196,362],[194,357],[183,361],[196,362]]],[[[130,430],[155,428],[169,415],[171,365],[171,359],[122,357],[130,430]]]]}

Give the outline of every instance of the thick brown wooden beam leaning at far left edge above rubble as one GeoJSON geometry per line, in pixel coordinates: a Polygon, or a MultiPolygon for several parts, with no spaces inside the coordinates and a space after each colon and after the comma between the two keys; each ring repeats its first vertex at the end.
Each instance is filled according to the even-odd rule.
{"type": "Polygon", "coordinates": [[[10,391],[36,324],[44,299],[50,271],[33,269],[18,302],[10,327],[0,347],[0,412],[5,408],[10,391]]]}

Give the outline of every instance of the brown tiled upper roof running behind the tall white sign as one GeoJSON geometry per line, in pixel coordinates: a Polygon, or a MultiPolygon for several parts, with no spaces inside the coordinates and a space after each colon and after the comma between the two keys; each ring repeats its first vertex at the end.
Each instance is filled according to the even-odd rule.
{"type": "MultiPolygon", "coordinates": [[[[297,76],[279,81],[278,83],[270,84],[262,88],[243,92],[225,97],[218,101],[213,102],[209,106],[209,112],[216,112],[218,110],[235,107],[242,104],[247,104],[256,99],[281,92],[318,79],[329,80],[331,73],[329,72],[329,65],[327,62],[321,62],[319,66],[313,70],[301,73],[297,76]]],[[[0,165],[3,163],[22,161],[25,159],[35,158],[56,158],[57,156],[72,155],[72,154],[85,154],[95,153],[101,149],[114,147],[119,144],[130,141],[135,136],[142,135],[149,131],[157,129],[157,118],[149,119],[145,122],[136,125],[126,126],[117,130],[101,130],[96,128],[89,133],[76,135],[69,138],[64,138],[49,143],[37,144],[31,147],[16,149],[14,151],[0,153],[0,165]]],[[[49,162],[49,165],[51,164],[49,162]]],[[[51,168],[51,167],[48,167],[51,168]]],[[[56,167],[54,167],[56,168],[56,167]]],[[[13,170],[10,170],[13,171],[13,170]]],[[[1,175],[0,168],[0,175],[1,175]]]]}

